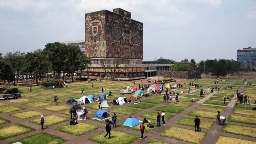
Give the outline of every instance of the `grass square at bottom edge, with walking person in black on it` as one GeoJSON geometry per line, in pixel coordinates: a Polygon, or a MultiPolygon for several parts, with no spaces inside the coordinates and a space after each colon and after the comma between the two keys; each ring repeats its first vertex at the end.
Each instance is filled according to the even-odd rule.
{"type": "Polygon", "coordinates": [[[140,138],[138,135],[135,135],[135,134],[111,130],[111,139],[106,140],[103,137],[105,134],[106,132],[100,132],[90,137],[89,140],[92,140],[101,144],[131,144],[140,138]]]}

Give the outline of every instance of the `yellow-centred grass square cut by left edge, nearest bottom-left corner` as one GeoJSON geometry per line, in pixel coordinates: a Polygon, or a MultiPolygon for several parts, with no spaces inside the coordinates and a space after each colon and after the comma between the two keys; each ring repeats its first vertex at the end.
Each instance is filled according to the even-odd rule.
{"type": "Polygon", "coordinates": [[[34,131],[35,129],[21,125],[21,124],[13,124],[0,128],[0,140],[4,140],[10,137],[14,137],[17,135],[21,135],[24,133],[28,133],[34,131]]]}

